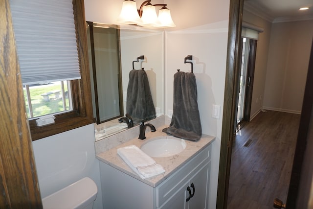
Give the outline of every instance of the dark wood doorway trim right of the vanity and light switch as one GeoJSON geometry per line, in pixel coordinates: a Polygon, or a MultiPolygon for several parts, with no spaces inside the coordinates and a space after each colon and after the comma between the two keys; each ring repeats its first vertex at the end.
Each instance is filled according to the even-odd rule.
{"type": "Polygon", "coordinates": [[[229,7],[228,46],[226,58],[226,78],[224,91],[223,125],[219,181],[217,190],[217,209],[226,209],[232,140],[236,126],[237,93],[241,65],[241,27],[244,0],[231,0],[229,7]]]}

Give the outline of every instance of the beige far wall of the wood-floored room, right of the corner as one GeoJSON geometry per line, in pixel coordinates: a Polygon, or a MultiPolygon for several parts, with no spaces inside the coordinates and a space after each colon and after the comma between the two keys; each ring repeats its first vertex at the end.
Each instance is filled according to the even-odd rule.
{"type": "Polygon", "coordinates": [[[301,113],[313,37],[313,20],[273,23],[264,108],[301,113]]]}

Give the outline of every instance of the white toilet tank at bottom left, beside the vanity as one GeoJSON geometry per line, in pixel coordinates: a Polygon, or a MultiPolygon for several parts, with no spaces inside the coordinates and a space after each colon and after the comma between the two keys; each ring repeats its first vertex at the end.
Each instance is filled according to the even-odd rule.
{"type": "Polygon", "coordinates": [[[97,185],[85,177],[43,198],[44,209],[92,209],[97,185]]]}

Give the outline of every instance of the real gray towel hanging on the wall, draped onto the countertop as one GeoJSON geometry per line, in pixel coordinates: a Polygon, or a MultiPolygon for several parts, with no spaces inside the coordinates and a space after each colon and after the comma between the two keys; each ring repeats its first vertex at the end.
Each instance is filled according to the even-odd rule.
{"type": "Polygon", "coordinates": [[[162,130],[174,137],[197,141],[202,128],[197,101],[197,83],[194,73],[174,74],[173,116],[169,127],[162,130]]]}

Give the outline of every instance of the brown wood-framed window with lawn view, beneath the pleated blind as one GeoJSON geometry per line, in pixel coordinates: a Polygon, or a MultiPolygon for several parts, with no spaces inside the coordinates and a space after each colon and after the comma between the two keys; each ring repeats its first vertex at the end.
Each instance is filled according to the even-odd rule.
{"type": "MultiPolygon", "coordinates": [[[[60,87],[60,94],[59,97],[62,97],[62,106],[65,105],[66,110],[62,110],[60,112],[57,112],[54,116],[55,123],[49,124],[46,126],[40,126],[38,127],[36,124],[35,119],[30,118],[29,119],[29,127],[31,132],[32,140],[42,139],[54,134],[62,133],[74,128],[78,128],[84,125],[88,125],[90,123],[93,123],[92,119],[92,105],[91,105],[91,93],[90,93],[90,79],[89,79],[89,63],[88,63],[88,49],[87,49],[87,35],[86,35],[86,21],[84,17],[84,0],[73,0],[73,10],[74,10],[74,22],[75,22],[75,31],[76,31],[76,42],[78,47],[78,60],[79,60],[79,69],[81,74],[81,79],[78,80],[70,80],[70,81],[64,81],[64,90],[62,90],[62,87],[60,87]],[[67,91],[70,89],[70,91],[67,91]],[[63,93],[64,91],[64,93],[63,93]],[[68,95],[67,95],[67,93],[68,95]],[[63,103],[63,98],[67,98],[63,103]],[[70,100],[72,100],[70,102],[70,100]],[[70,103],[72,105],[70,105],[70,103]]],[[[62,85],[62,82],[58,81],[56,82],[56,85],[62,85]]],[[[40,86],[40,88],[47,88],[48,85],[37,85],[40,86]]],[[[34,104],[28,105],[28,100],[32,101],[33,99],[36,100],[34,96],[32,96],[32,86],[31,85],[25,85],[23,86],[25,88],[26,97],[25,97],[25,103],[26,103],[26,109],[27,114],[30,116],[29,109],[32,109],[33,117],[34,115],[34,104]],[[27,96],[27,88],[29,89],[29,97],[27,96]],[[33,98],[32,98],[33,97],[33,98]]],[[[49,92],[50,90],[43,90],[45,93],[49,92]]],[[[57,91],[57,90],[55,90],[57,91]]],[[[40,93],[44,94],[44,93],[40,93]]],[[[41,102],[44,102],[43,100],[47,100],[47,102],[53,102],[56,99],[57,93],[54,93],[54,95],[49,95],[49,101],[47,100],[47,97],[44,98],[43,95],[40,95],[42,99],[41,102]]],[[[59,99],[60,99],[59,98],[59,99]]],[[[62,108],[61,108],[62,109],[62,108]]],[[[43,113],[43,112],[41,112],[43,113]]]]}

